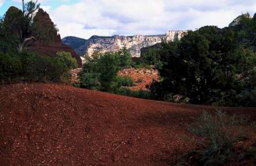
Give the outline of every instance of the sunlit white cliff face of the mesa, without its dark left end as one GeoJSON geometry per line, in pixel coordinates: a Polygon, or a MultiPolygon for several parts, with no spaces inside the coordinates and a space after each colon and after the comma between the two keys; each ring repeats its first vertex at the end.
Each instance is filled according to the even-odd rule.
{"type": "Polygon", "coordinates": [[[180,40],[184,33],[186,31],[169,30],[165,35],[154,36],[93,36],[89,39],[85,55],[90,57],[95,51],[100,53],[116,52],[126,47],[131,52],[132,57],[140,57],[140,49],[161,43],[162,41],[180,40]]]}

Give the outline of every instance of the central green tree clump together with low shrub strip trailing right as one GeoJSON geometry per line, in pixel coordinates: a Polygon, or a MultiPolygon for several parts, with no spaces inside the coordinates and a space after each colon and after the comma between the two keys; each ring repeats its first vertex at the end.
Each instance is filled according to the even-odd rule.
{"type": "Polygon", "coordinates": [[[129,90],[134,81],[128,76],[117,76],[117,72],[131,63],[131,57],[127,49],[120,52],[107,52],[101,54],[95,52],[92,57],[87,57],[83,64],[83,70],[79,74],[81,83],[75,86],[113,92],[119,95],[132,96],[136,98],[153,99],[151,92],[129,90]],[[127,55],[126,57],[122,57],[127,55]],[[123,87],[122,87],[123,86],[123,87]]]}

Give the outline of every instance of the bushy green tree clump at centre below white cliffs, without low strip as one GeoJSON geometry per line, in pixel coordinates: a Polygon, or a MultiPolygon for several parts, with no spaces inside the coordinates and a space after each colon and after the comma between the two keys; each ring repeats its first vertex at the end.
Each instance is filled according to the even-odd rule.
{"type": "Polygon", "coordinates": [[[106,52],[103,55],[95,52],[92,57],[87,57],[83,65],[79,75],[81,87],[114,92],[122,84],[131,84],[128,78],[117,77],[117,72],[131,63],[131,55],[126,48],[119,52],[106,52]]]}

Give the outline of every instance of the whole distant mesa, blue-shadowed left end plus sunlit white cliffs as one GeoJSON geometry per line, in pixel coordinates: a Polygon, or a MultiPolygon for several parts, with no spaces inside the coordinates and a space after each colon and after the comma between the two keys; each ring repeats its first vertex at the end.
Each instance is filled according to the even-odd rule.
{"type": "Polygon", "coordinates": [[[65,37],[62,39],[62,42],[75,49],[80,56],[86,55],[90,57],[95,51],[100,53],[116,52],[126,47],[132,57],[140,57],[140,50],[142,48],[150,47],[163,41],[180,40],[186,32],[185,30],[169,30],[166,34],[148,36],[91,36],[88,40],[65,37]]]}

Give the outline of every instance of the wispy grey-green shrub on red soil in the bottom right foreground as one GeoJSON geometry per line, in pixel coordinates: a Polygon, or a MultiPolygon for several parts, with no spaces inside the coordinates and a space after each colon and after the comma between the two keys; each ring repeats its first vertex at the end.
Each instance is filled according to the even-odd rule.
{"type": "Polygon", "coordinates": [[[189,163],[217,166],[241,158],[234,145],[245,137],[239,128],[239,125],[244,125],[242,119],[243,117],[235,115],[230,117],[223,111],[216,111],[214,114],[204,112],[196,122],[188,126],[190,132],[202,138],[202,141],[197,142],[202,148],[185,155],[185,161],[181,160],[179,165],[189,163]],[[191,155],[193,157],[189,159],[191,155]]]}

